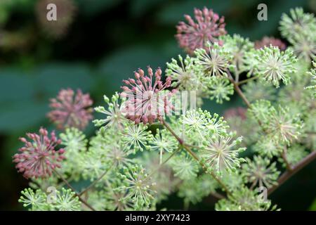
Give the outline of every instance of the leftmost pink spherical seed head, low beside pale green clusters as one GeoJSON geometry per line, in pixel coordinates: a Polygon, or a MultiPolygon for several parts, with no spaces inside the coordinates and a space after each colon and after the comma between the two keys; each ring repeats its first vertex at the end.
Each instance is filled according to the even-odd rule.
{"type": "Polygon", "coordinates": [[[54,131],[48,136],[48,131],[44,128],[39,129],[39,134],[28,133],[27,138],[31,141],[20,138],[25,146],[19,149],[20,153],[13,156],[18,172],[22,172],[27,179],[51,176],[53,169],[60,167],[60,162],[65,158],[62,155],[65,153],[63,148],[55,150],[60,139],[55,136],[54,131]]]}

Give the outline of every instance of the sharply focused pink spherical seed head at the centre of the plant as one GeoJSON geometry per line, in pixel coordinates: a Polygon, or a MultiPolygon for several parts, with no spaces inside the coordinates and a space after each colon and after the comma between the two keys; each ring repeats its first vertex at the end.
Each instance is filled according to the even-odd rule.
{"type": "Polygon", "coordinates": [[[121,96],[127,98],[122,113],[136,124],[151,124],[162,120],[164,115],[170,115],[174,108],[170,98],[175,91],[165,89],[171,86],[171,78],[168,77],[166,82],[162,82],[160,68],[153,72],[152,68],[148,67],[147,76],[142,69],[138,69],[134,74],[134,82],[129,79],[129,84],[123,81],[127,86],[121,86],[121,96]]]}

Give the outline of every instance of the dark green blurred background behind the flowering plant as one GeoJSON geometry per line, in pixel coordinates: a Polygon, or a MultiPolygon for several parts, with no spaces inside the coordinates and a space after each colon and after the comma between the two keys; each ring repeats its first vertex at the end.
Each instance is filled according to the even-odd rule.
{"type": "MultiPolygon", "coordinates": [[[[48,100],[60,89],[80,88],[99,105],[103,94],[119,91],[121,80],[137,68],[165,68],[172,57],[185,54],[174,39],[175,26],[195,7],[225,15],[228,33],[251,41],[279,37],[279,19],[290,8],[316,11],[316,0],[59,0],[64,19],[52,26],[43,4],[56,1],[0,0],[0,210],[22,210],[18,198],[27,180],[16,172],[12,155],[25,132],[53,129],[46,118],[48,100]],[[268,21],[257,20],[260,3],[268,5],[268,21]]],[[[204,108],[223,113],[240,104],[238,98],[223,105],[205,101],[204,108]]],[[[86,133],[93,131],[91,125],[86,133]]],[[[315,171],[314,162],[275,191],[273,203],[283,210],[315,210],[315,171]]],[[[212,205],[206,199],[191,209],[212,205]]],[[[163,206],[180,209],[182,203],[174,195],[163,206]]]]}

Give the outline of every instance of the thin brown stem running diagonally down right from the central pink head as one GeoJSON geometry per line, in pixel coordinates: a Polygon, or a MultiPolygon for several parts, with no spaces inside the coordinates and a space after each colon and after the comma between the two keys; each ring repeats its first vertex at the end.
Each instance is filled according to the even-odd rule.
{"type": "MultiPolygon", "coordinates": [[[[192,158],[195,158],[195,160],[197,160],[197,162],[199,162],[199,164],[202,166],[202,168],[207,172],[206,170],[206,165],[204,165],[203,162],[201,162],[201,160],[199,160],[199,158],[197,157],[197,155],[192,152],[192,150],[190,149],[189,146],[187,146],[183,139],[180,139],[180,137],[173,131],[173,129],[169,126],[168,123],[166,123],[166,121],[162,120],[162,124],[164,124],[164,127],[166,127],[166,129],[168,129],[170,131],[170,133],[178,140],[178,142],[180,143],[181,146],[183,146],[183,148],[185,150],[187,150],[187,153],[189,153],[192,158]]],[[[223,187],[223,189],[225,190],[226,193],[231,194],[230,191],[228,190],[228,188],[225,186],[225,184],[223,183],[223,181],[221,181],[216,174],[214,174],[213,172],[210,172],[209,174],[211,174],[211,176],[213,176],[213,179],[215,179],[218,184],[220,184],[220,186],[223,187]]]]}

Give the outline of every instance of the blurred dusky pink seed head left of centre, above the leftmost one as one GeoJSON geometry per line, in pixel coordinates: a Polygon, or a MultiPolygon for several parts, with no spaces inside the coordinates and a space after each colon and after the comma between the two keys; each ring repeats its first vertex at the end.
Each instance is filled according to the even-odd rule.
{"type": "Polygon", "coordinates": [[[90,108],[92,104],[89,94],[82,94],[80,89],[77,90],[77,94],[72,89],[62,89],[56,98],[51,99],[52,110],[48,117],[58,129],[84,129],[93,118],[90,108]]]}

